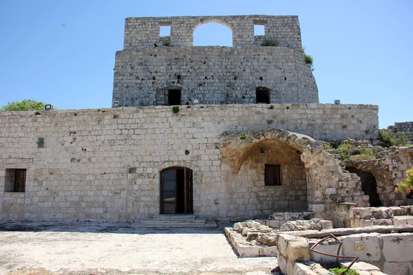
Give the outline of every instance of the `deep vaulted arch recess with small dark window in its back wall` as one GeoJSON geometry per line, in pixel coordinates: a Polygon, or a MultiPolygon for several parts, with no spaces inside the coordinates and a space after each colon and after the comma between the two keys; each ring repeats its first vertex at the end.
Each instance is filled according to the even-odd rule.
{"type": "Polygon", "coordinates": [[[308,211],[302,148],[289,142],[290,136],[284,131],[257,131],[246,134],[245,142],[244,135],[229,135],[223,142],[222,159],[233,172],[226,190],[232,194],[229,204],[234,211],[255,219],[273,212],[308,211]]]}

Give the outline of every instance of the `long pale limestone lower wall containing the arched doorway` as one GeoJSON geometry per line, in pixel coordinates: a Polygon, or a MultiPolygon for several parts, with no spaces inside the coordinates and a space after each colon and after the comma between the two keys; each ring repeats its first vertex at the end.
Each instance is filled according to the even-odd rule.
{"type": "MultiPolygon", "coordinates": [[[[0,113],[0,219],[152,217],[159,213],[160,170],[171,166],[193,170],[193,209],[198,217],[259,218],[262,212],[257,209],[269,209],[268,198],[279,192],[264,188],[263,181],[258,186],[262,163],[276,159],[251,155],[262,162],[253,166],[247,159],[243,177],[235,180],[222,173],[229,170],[221,159],[222,134],[282,128],[320,140],[343,140],[372,137],[377,124],[377,107],[372,105],[193,105],[181,107],[178,114],[171,107],[0,113]],[[25,192],[7,192],[10,169],[27,170],[25,192]],[[258,192],[257,197],[252,192],[258,192]],[[243,208],[234,212],[234,203],[243,208]]],[[[305,192],[299,187],[304,180],[301,165],[295,158],[285,165],[285,173],[297,173],[286,177],[286,183],[298,186],[286,188],[284,197],[280,192],[278,198],[287,202],[271,204],[283,210],[282,205],[290,208],[291,199],[302,203],[305,192]]],[[[316,174],[310,175],[313,181],[316,174]]],[[[307,197],[315,192],[307,189],[307,197]]],[[[324,196],[315,195],[315,201],[324,196]]],[[[314,205],[308,208],[315,210],[314,205]]]]}

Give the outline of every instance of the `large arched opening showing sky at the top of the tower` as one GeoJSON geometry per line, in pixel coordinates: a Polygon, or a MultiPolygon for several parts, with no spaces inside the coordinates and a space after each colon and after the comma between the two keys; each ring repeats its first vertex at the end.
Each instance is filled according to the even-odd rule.
{"type": "Polygon", "coordinates": [[[232,47],[232,30],[220,23],[202,24],[193,31],[193,45],[232,47]]]}

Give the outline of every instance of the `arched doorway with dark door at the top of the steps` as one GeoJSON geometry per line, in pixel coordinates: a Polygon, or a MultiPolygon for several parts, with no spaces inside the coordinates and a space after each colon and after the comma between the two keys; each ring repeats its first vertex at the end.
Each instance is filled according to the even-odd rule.
{"type": "Polygon", "coordinates": [[[160,214],[193,214],[192,170],[170,167],[160,172],[160,214]]]}

